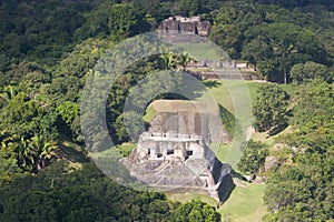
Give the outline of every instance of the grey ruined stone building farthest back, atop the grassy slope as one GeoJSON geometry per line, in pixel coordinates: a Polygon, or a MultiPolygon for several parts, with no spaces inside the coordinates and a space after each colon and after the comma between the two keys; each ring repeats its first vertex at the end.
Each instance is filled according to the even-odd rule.
{"type": "Polygon", "coordinates": [[[202,37],[208,36],[210,32],[210,23],[202,21],[200,17],[169,17],[165,19],[158,27],[159,32],[169,34],[198,34],[202,37]]]}

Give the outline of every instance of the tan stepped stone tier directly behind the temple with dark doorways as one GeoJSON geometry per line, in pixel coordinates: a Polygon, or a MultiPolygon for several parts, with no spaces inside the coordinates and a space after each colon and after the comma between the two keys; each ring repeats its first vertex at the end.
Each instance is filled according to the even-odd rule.
{"type": "Polygon", "coordinates": [[[156,100],[150,105],[156,111],[148,130],[153,135],[200,137],[206,144],[230,140],[223,129],[219,108],[213,102],[156,100]]]}

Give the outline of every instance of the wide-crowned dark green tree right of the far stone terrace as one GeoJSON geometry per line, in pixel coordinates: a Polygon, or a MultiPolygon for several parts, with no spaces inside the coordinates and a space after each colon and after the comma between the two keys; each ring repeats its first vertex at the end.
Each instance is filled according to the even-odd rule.
{"type": "MultiPolygon", "coordinates": [[[[273,69],[261,69],[259,67],[262,74],[267,77],[269,81],[278,80],[278,82],[287,83],[289,70],[294,64],[310,60],[315,62],[326,61],[326,51],[320,40],[313,32],[299,26],[287,22],[273,22],[255,27],[245,34],[250,41],[261,38],[262,41],[269,46],[272,53],[267,53],[265,58],[258,58],[261,60],[256,61],[257,63],[273,64],[273,69]],[[271,77],[273,73],[278,77],[271,77]]],[[[250,47],[246,46],[245,49],[250,47]]],[[[247,51],[245,53],[249,58],[249,53],[247,51]]]]}

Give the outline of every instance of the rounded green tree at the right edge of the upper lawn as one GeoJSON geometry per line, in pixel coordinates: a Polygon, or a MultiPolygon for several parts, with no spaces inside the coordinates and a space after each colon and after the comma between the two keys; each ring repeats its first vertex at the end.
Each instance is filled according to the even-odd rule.
{"type": "Polygon", "coordinates": [[[254,128],[259,131],[269,131],[275,134],[287,125],[288,94],[276,84],[262,84],[256,90],[254,102],[254,128]]]}

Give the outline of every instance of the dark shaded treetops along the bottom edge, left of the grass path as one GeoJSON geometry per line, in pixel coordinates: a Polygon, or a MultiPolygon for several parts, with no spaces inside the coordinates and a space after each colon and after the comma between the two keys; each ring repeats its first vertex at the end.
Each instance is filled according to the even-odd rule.
{"type": "Polygon", "coordinates": [[[167,202],[163,193],[127,189],[90,163],[71,173],[65,167],[57,162],[37,176],[17,179],[1,188],[0,220],[179,221],[180,214],[188,218],[184,212],[187,209],[191,221],[220,221],[220,215],[206,203],[176,204],[167,202]],[[173,205],[178,206],[173,210],[173,205]]]}

